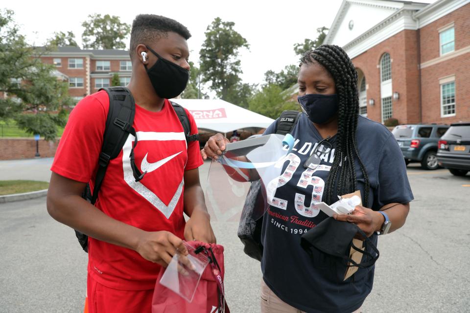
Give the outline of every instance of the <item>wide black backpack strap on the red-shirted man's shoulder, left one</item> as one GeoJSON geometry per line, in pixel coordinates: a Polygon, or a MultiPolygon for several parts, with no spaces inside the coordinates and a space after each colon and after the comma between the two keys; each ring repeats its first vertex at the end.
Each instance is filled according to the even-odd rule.
{"type": "MultiPolygon", "coordinates": [[[[103,145],[98,159],[98,170],[94,181],[91,203],[94,204],[98,197],[98,191],[103,183],[109,161],[116,158],[129,133],[136,135],[132,124],[136,113],[135,100],[129,89],[125,87],[107,87],[109,95],[109,112],[106,118],[106,126],[103,135],[103,145]]],[[[137,136],[134,146],[137,144],[137,136]]],[[[133,162],[131,161],[131,164],[133,162]]]]}

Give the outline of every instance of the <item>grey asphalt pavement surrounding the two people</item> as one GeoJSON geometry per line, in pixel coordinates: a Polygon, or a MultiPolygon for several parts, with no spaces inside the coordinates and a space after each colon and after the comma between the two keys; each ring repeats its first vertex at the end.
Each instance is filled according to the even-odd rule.
{"type": "MultiPolygon", "coordinates": [[[[0,179],[48,180],[50,161],[0,161],[0,179]]],[[[408,176],[416,201],[406,224],[379,240],[374,289],[363,312],[470,312],[470,175],[412,164],[408,176]]],[[[236,222],[213,220],[226,249],[231,311],[259,312],[259,263],[243,254],[236,222]]],[[[0,204],[0,238],[0,313],[83,312],[87,255],[73,231],[48,216],[45,198],[0,204]]]]}

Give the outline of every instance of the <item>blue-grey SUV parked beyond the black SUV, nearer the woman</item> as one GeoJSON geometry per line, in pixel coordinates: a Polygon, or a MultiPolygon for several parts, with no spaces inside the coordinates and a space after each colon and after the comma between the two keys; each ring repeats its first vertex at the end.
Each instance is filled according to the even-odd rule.
{"type": "Polygon", "coordinates": [[[411,161],[418,161],[423,169],[435,170],[439,167],[437,144],[448,128],[448,125],[437,124],[399,125],[392,133],[398,141],[406,165],[411,161]]]}

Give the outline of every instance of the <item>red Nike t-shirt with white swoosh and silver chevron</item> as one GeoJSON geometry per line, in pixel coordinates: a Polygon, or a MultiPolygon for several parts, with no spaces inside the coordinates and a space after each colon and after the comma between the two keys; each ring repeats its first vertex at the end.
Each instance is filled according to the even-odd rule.
{"type": "MultiPolygon", "coordinates": [[[[93,185],[108,110],[109,97],[104,90],[77,104],[51,171],[93,185]]],[[[186,112],[191,134],[196,134],[194,119],[186,112]]],[[[134,179],[129,158],[134,136],[129,134],[119,156],[109,163],[95,205],[123,223],[145,231],[167,230],[183,239],[183,176],[186,170],[203,164],[198,142],[190,142],[187,147],[183,126],[168,100],[160,112],[136,104],[133,126],[138,139],[135,163],[147,174],[138,182],[134,179]]],[[[160,266],[134,250],[89,238],[88,255],[88,271],[102,285],[120,290],[155,287],[160,266]]]]}

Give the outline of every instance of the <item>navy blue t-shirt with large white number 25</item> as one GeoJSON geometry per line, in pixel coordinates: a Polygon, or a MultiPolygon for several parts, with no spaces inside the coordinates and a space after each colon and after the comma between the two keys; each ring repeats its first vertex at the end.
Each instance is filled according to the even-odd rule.
{"type": "MultiPolygon", "coordinates": [[[[265,134],[275,133],[276,122],[265,134]]],[[[308,313],[351,313],[372,290],[374,267],[358,269],[343,281],[346,267],[327,261],[318,252],[310,256],[300,237],[328,216],[314,206],[323,201],[325,185],[334,159],[336,135],[329,139],[333,150],[321,155],[315,169],[304,163],[322,137],[305,114],[291,133],[294,148],[286,156],[275,198],[264,216],[261,269],[269,288],[287,304],[308,313]]],[[[392,202],[413,200],[403,155],[393,134],[382,124],[359,116],[359,156],[370,181],[369,207],[379,210],[392,202]]],[[[364,202],[364,176],[355,160],[357,190],[364,202]]],[[[377,235],[371,239],[377,243],[377,235]]]]}

